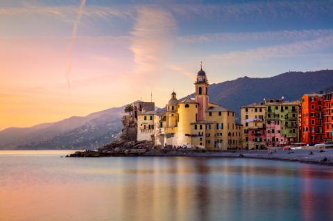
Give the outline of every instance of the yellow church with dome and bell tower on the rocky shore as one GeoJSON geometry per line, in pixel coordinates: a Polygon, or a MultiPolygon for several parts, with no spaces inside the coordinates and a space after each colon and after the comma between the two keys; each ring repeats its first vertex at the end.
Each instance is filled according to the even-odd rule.
{"type": "Polygon", "coordinates": [[[163,112],[139,112],[137,140],[151,140],[160,148],[240,149],[242,125],[233,110],[210,102],[202,64],[194,87],[195,98],[178,100],[173,91],[163,112]]]}

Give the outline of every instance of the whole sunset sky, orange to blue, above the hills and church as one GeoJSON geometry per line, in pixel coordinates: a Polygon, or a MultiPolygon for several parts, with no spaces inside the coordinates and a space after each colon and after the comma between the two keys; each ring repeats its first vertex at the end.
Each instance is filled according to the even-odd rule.
{"type": "Polygon", "coordinates": [[[0,130],[333,69],[333,1],[0,0],[0,130]]]}

